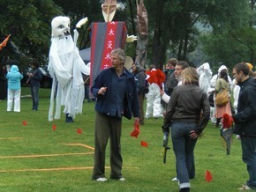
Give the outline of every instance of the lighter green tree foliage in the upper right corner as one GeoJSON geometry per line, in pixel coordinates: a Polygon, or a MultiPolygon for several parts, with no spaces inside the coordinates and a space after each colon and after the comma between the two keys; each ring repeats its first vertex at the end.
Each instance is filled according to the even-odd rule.
{"type": "Polygon", "coordinates": [[[256,56],[256,14],[252,4],[255,4],[255,1],[252,1],[252,4],[244,0],[232,3],[229,9],[224,7],[224,4],[218,4],[219,11],[216,12],[215,18],[214,10],[209,14],[213,32],[203,35],[201,39],[204,51],[215,60],[215,64],[224,63],[229,67],[239,62],[253,64],[256,56]]]}

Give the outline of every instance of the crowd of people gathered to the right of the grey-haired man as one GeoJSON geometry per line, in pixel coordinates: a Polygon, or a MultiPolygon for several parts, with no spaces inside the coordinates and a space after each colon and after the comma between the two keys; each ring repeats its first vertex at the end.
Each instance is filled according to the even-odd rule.
{"type": "MultiPolygon", "coordinates": [[[[229,115],[235,122],[234,134],[241,139],[242,159],[249,174],[249,180],[238,189],[256,189],[256,106],[253,100],[256,78],[252,69],[251,63],[238,63],[233,68],[232,81],[225,65],[213,76],[209,63],[192,68],[189,63],[177,61],[176,58],[169,59],[163,71],[150,65],[149,70],[144,72],[147,76],[142,75],[143,70],[139,67],[132,67],[135,79],[139,79],[138,73],[141,77],[138,85],[140,103],[144,96],[147,100],[145,118],[163,117],[162,129],[170,129],[177,166],[177,178],[173,181],[178,181],[180,191],[190,191],[189,180],[195,177],[193,151],[198,137],[210,121],[215,127],[223,129],[223,115],[229,115]],[[142,77],[149,82],[149,92],[141,95],[141,86],[144,85],[142,77]],[[216,105],[215,97],[224,90],[229,95],[227,103],[216,105]],[[210,106],[211,93],[214,96],[210,106]]],[[[140,119],[143,112],[143,108],[139,107],[140,119]]],[[[143,125],[147,122],[139,123],[143,125]]]]}

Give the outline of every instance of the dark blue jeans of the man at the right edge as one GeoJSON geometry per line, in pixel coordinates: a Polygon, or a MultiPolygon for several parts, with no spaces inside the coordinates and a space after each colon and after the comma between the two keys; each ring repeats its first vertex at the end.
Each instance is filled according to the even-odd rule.
{"type": "Polygon", "coordinates": [[[247,172],[249,180],[246,184],[256,189],[256,137],[243,137],[241,136],[242,144],[242,159],[247,165],[247,172]]]}

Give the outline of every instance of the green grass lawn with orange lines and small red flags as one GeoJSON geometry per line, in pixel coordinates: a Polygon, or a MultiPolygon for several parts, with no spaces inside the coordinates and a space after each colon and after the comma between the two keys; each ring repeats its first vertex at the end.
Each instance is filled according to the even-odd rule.
{"type": "MultiPolygon", "coordinates": [[[[29,90],[22,87],[22,95],[29,90]]],[[[162,119],[146,119],[139,137],[130,137],[133,120],[123,119],[122,153],[125,182],[91,181],[94,166],[94,103],[84,103],[74,123],[48,122],[49,89],[40,90],[39,111],[31,98],[21,99],[21,112],[6,112],[0,101],[0,191],[178,191],[175,156],[168,151],[162,162],[162,119]],[[26,122],[26,126],[23,125],[26,122]],[[55,131],[53,124],[56,125],[55,131]],[[77,133],[81,129],[81,134],[77,133]],[[146,141],[148,147],[140,146],[146,141]]],[[[171,141],[169,141],[171,146],[171,141]]],[[[109,149],[106,176],[109,178],[109,149]]],[[[196,178],[191,191],[237,191],[248,179],[241,159],[240,140],[231,154],[222,148],[219,129],[210,122],[195,149],[196,178]],[[213,181],[205,181],[206,170],[213,181]]]]}

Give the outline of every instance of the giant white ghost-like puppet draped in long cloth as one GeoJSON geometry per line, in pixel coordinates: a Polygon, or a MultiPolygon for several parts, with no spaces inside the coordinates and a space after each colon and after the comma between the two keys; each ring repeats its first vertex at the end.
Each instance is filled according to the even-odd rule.
{"type": "Polygon", "coordinates": [[[53,121],[54,99],[56,97],[55,119],[60,119],[61,106],[64,114],[75,117],[82,112],[85,96],[82,73],[90,75],[90,68],[79,55],[76,42],[79,37],[74,30],[74,41],[70,34],[70,18],[58,16],[51,22],[52,38],[49,49],[49,74],[53,78],[49,122],[53,121]]]}

